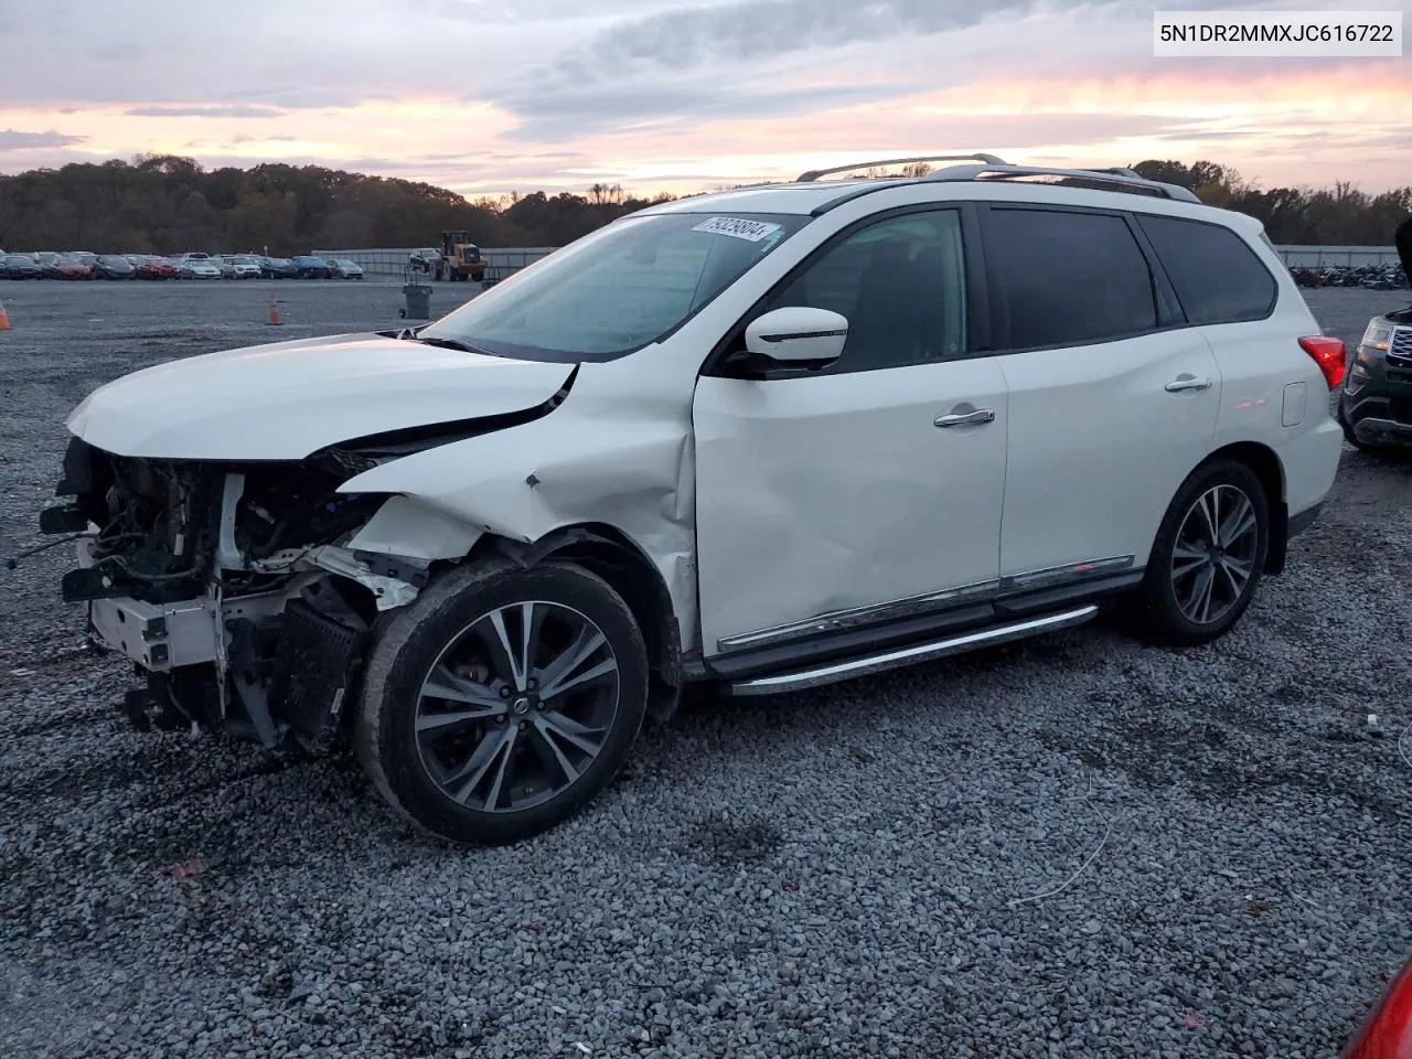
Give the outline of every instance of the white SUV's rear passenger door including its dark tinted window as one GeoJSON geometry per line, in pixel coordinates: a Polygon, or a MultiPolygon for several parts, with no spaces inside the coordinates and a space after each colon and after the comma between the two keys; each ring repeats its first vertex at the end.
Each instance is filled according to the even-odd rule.
{"type": "Polygon", "coordinates": [[[1015,589],[1141,566],[1211,450],[1221,376],[1118,210],[991,206],[1010,390],[1001,575],[1015,589]]]}

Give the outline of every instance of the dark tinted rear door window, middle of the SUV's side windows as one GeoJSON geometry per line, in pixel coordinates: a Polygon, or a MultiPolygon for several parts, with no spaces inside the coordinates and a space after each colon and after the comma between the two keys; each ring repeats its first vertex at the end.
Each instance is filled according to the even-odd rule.
{"type": "Polygon", "coordinates": [[[1120,216],[991,208],[986,260],[1005,294],[1011,349],[1156,328],[1152,270],[1120,216]]]}

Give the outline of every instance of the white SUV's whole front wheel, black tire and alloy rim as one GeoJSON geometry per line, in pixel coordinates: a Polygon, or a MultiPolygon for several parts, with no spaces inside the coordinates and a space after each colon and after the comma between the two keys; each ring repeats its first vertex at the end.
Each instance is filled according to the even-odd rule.
{"type": "Polygon", "coordinates": [[[354,747],[383,798],[431,834],[460,844],[520,842],[611,782],[642,727],[647,686],[642,634],[602,578],[556,562],[472,563],[380,623],[354,747]],[[510,652],[493,647],[501,642],[494,616],[503,642],[520,645],[527,603],[539,637],[521,679],[510,652]],[[587,642],[599,645],[580,658],[575,645],[587,642]],[[579,661],[569,665],[572,658],[579,661]],[[470,698],[426,695],[433,671],[439,690],[470,698]],[[541,700],[551,683],[568,686],[541,700]]]}

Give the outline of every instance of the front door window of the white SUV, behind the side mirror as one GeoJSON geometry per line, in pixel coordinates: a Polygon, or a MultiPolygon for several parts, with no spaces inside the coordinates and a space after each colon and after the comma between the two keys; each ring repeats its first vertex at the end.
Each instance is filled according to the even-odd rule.
{"type": "Polygon", "coordinates": [[[827,249],[765,306],[808,305],[849,321],[826,371],[870,371],[959,357],[966,350],[960,213],[907,213],[827,249]]]}

